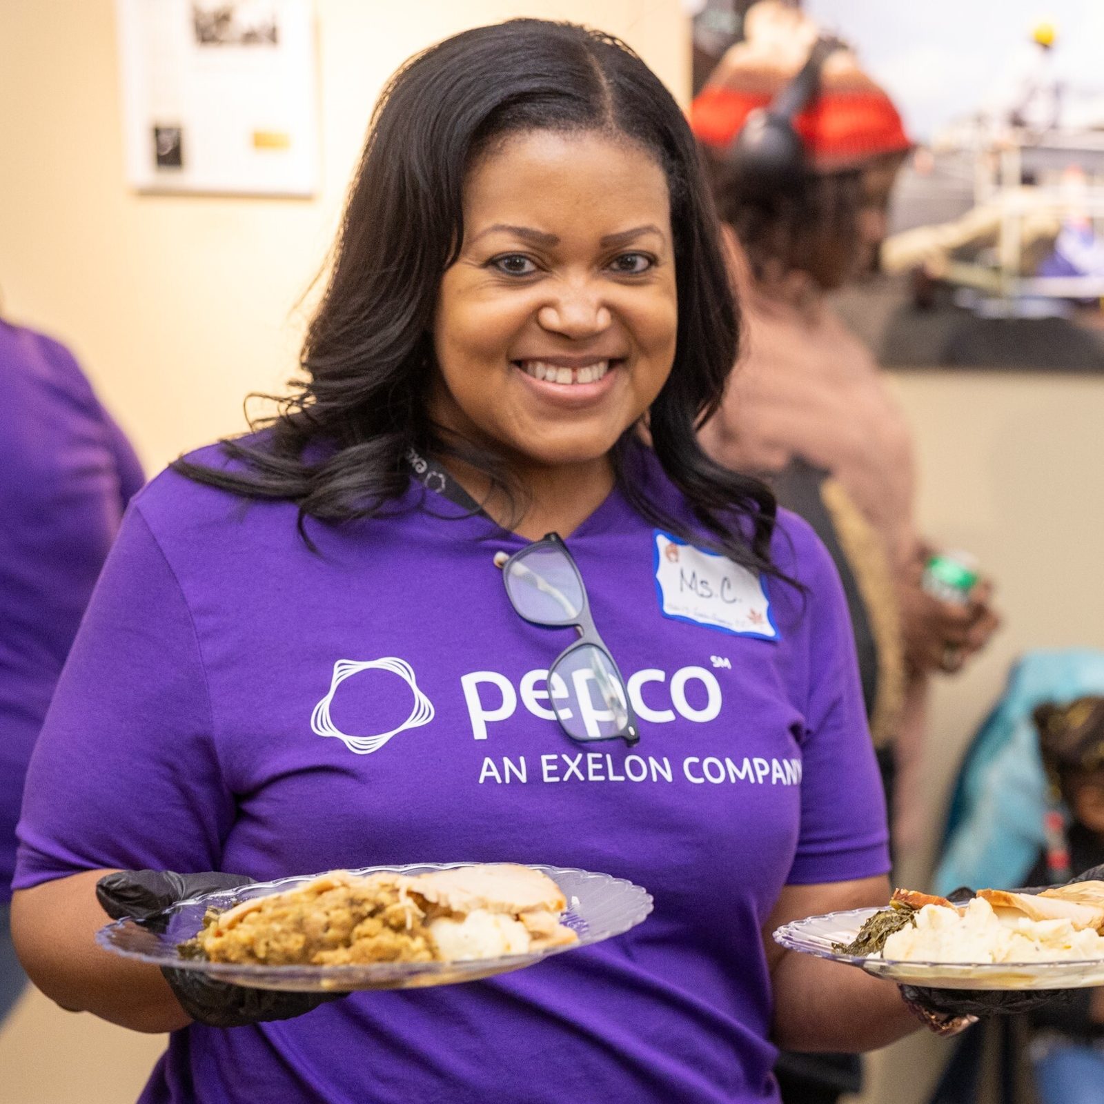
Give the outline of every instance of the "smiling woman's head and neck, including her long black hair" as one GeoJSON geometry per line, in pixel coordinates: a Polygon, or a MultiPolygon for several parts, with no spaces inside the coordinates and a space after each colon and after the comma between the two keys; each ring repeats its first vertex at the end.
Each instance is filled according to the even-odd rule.
{"type": "Polygon", "coordinates": [[[392,78],[306,380],[263,437],[225,443],[241,465],[176,467],[346,520],[403,493],[413,446],[448,457],[527,535],[545,531],[538,503],[574,502],[570,531],[617,484],[689,539],[624,474],[647,414],[705,543],[773,572],[771,495],[713,464],[694,433],[736,351],[712,199],[670,93],[614,39],[517,20],[448,39],[392,78]],[[723,517],[733,510],[743,528],[723,517]]]}

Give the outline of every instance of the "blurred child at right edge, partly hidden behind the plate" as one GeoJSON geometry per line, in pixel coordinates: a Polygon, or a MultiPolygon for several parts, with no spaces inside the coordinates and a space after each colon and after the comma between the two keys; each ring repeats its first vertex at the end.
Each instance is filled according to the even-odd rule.
{"type": "MultiPolygon", "coordinates": [[[[1104,862],[1104,697],[1040,705],[1034,721],[1054,800],[1028,884],[1060,884],[1071,869],[1104,862]]],[[[1104,1104],[1104,988],[1074,989],[1031,1023],[1040,1104],[1104,1104]]]]}

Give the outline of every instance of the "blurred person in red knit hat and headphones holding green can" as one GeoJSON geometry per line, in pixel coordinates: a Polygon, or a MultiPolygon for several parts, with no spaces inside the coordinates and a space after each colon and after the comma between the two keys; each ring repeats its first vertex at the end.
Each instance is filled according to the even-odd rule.
{"type": "MultiPolygon", "coordinates": [[[[691,107],[747,331],[701,438],[715,459],[765,478],[832,553],[900,850],[923,830],[926,679],[962,669],[997,626],[988,582],[962,603],[923,588],[933,549],[914,528],[907,426],[870,352],[826,302],[873,268],[910,142],[853,53],[802,12],[764,0],[744,28],[691,107]]],[[[856,1066],[784,1057],[784,1096],[834,1101],[857,1087],[856,1066]]]]}

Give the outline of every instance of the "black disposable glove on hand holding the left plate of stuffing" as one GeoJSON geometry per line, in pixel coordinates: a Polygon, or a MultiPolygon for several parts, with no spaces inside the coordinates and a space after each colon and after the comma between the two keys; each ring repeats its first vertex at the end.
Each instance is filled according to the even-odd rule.
{"type": "MultiPolygon", "coordinates": [[[[171,870],[121,870],[100,878],[96,899],[113,920],[129,916],[153,931],[159,916],[170,905],[200,893],[248,885],[252,878],[210,871],[177,874],[171,870]]],[[[163,927],[164,921],[160,921],[163,927]]],[[[212,1028],[240,1028],[263,1020],[289,1020],[319,1005],[343,997],[343,992],[284,992],[251,989],[215,980],[200,970],[170,969],[161,973],[180,1001],[180,1007],[199,1023],[212,1028]]]]}

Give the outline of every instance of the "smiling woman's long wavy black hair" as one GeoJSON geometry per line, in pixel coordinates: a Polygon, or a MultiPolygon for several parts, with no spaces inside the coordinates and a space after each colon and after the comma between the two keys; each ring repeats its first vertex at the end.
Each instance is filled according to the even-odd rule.
{"type": "Polygon", "coordinates": [[[372,117],[332,272],[307,332],[305,378],[259,437],[230,439],[236,464],[178,460],[201,482],[285,499],[306,517],[372,517],[408,488],[405,456],[463,455],[509,490],[493,456],[450,439],[427,413],[440,278],[463,242],[465,173],[510,132],[602,130],[648,150],[667,176],[679,317],[675,364],[647,415],[659,463],[707,530],[649,500],[633,477],[636,427],[613,453],[622,492],[648,521],[776,573],[775,501],[698,445],[736,359],[739,321],[719,223],[694,139],[670,93],[611,35],[521,19],[466,31],[406,62],[372,117]]]}

